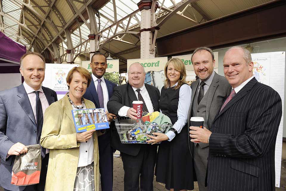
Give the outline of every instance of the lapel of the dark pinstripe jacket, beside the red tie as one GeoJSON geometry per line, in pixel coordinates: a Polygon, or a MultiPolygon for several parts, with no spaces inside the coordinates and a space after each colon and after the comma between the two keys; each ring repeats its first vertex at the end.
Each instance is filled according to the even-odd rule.
{"type": "MultiPolygon", "coordinates": [[[[228,110],[233,104],[235,104],[237,101],[239,101],[241,98],[243,98],[249,90],[252,89],[254,84],[257,83],[257,80],[255,78],[252,78],[230,101],[226,106],[221,110],[220,113],[215,117],[218,118],[220,115],[222,115],[226,110],[228,110]]],[[[214,121],[215,121],[214,119],[214,121]]]]}

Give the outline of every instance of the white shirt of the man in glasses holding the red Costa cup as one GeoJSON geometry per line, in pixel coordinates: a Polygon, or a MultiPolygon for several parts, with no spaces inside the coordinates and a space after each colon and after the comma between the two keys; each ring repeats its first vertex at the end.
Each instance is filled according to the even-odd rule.
{"type": "MultiPolygon", "coordinates": [[[[138,88],[136,87],[132,87],[137,99],[138,99],[138,92],[136,91],[138,88]]],[[[144,102],[146,104],[146,107],[148,109],[148,112],[149,113],[152,113],[154,112],[154,109],[153,109],[153,105],[152,105],[152,101],[151,101],[151,98],[149,96],[149,93],[145,87],[145,84],[143,84],[143,86],[140,89],[140,94],[142,95],[143,99],[144,99],[144,102]]],[[[127,107],[127,106],[123,106],[119,109],[118,111],[118,115],[119,116],[126,116],[127,115],[127,111],[130,109],[130,107],[127,107]]]]}

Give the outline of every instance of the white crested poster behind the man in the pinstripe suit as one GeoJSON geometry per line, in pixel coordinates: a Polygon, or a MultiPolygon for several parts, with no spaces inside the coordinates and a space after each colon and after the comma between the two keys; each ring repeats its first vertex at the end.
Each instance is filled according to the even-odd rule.
{"type": "MultiPolygon", "coordinates": [[[[257,81],[272,87],[282,99],[284,113],[285,91],[285,52],[251,54],[254,63],[253,76],[257,81]]],[[[280,187],[281,157],[282,157],[283,115],[275,145],[275,186],[280,187]]]]}

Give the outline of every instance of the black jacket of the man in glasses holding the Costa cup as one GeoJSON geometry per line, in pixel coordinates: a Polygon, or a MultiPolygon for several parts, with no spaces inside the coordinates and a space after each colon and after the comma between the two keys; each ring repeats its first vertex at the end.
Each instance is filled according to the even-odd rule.
{"type": "MultiPolygon", "coordinates": [[[[159,110],[159,98],[160,92],[158,88],[145,84],[145,87],[149,93],[150,99],[154,104],[155,111],[159,110]]],[[[110,113],[118,114],[118,111],[123,106],[132,107],[132,102],[137,101],[137,97],[133,91],[133,88],[129,83],[114,87],[113,95],[107,103],[107,109],[110,113]]],[[[111,146],[119,150],[122,153],[136,156],[139,153],[142,144],[122,144],[117,130],[113,128],[111,146]]],[[[157,146],[154,146],[154,148],[157,146]]]]}

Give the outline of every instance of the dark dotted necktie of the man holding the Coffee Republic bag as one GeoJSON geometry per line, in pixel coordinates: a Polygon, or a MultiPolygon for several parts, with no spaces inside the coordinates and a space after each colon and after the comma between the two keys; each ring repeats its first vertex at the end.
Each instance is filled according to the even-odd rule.
{"type": "MultiPolygon", "coordinates": [[[[43,128],[43,109],[41,100],[39,97],[39,91],[34,91],[36,94],[36,118],[37,118],[37,144],[40,144],[42,128],[43,128]]],[[[46,149],[41,146],[41,155],[42,158],[46,156],[46,149]]]]}

